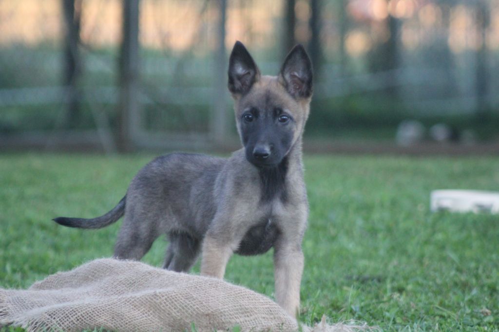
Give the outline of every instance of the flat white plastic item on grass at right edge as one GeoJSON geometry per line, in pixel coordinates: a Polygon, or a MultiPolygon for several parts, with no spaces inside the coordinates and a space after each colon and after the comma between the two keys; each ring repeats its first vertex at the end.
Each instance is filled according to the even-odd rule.
{"type": "Polygon", "coordinates": [[[482,190],[433,190],[432,211],[499,213],[499,192],[482,190]]]}

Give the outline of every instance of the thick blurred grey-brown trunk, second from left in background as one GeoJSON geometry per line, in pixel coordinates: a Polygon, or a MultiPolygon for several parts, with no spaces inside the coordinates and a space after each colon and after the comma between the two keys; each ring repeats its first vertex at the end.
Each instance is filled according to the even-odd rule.
{"type": "Polygon", "coordinates": [[[123,39],[119,61],[119,141],[121,152],[134,149],[140,130],[139,0],[123,1],[123,39]]]}

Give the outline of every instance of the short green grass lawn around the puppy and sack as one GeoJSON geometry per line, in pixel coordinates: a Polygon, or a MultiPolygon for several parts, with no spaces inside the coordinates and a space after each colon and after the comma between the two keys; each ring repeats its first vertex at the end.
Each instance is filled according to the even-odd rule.
{"type": "MultiPolygon", "coordinates": [[[[50,219],[108,211],[149,160],[0,156],[0,286],[111,256],[119,222],[83,231],[50,219]]],[[[499,331],[499,216],[429,211],[432,189],[498,190],[499,158],[305,156],[305,165],[304,324],[326,315],[385,331],[499,331]]],[[[160,266],[165,246],[158,240],[144,261],[160,266]]],[[[226,278],[272,297],[271,257],[234,256],[226,278]]]]}

